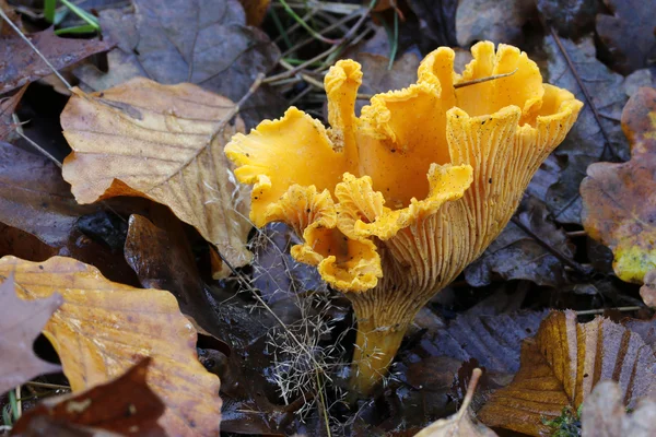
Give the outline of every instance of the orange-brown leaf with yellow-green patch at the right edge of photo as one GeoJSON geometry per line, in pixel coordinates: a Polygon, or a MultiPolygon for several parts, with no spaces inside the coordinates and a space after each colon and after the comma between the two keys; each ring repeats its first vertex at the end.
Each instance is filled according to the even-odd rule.
{"type": "Polygon", "coordinates": [[[622,113],[631,161],[597,163],[581,185],[583,225],[612,249],[613,270],[642,283],[656,269],[656,90],[641,88],[622,113]]]}

